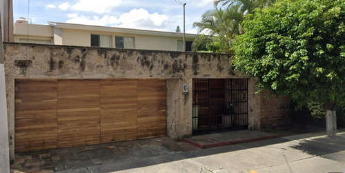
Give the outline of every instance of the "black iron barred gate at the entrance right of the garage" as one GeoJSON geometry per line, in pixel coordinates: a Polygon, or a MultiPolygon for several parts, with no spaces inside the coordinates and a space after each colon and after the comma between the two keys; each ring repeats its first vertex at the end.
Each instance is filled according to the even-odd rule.
{"type": "Polygon", "coordinates": [[[193,79],[193,134],[248,129],[248,79],[193,79]]]}

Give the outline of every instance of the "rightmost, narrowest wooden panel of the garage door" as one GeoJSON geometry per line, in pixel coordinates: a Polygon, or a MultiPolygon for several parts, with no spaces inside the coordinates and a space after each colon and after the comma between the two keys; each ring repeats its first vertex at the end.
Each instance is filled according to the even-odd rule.
{"type": "Polygon", "coordinates": [[[166,135],[166,81],[138,81],[138,138],[166,135]]]}

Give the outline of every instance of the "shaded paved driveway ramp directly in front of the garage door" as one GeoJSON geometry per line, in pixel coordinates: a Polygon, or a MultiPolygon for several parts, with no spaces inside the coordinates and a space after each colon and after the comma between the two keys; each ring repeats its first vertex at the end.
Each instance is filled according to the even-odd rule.
{"type": "Polygon", "coordinates": [[[16,153],[15,161],[10,167],[12,170],[20,172],[51,173],[191,150],[199,149],[188,143],[177,142],[168,137],[157,137],[56,150],[16,153]]]}

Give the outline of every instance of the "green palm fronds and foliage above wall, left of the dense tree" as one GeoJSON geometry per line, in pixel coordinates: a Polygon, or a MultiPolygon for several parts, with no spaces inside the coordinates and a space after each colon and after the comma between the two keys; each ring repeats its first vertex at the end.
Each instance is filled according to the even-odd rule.
{"type": "Polygon", "coordinates": [[[255,8],[265,8],[275,0],[216,0],[215,9],[208,10],[200,22],[195,22],[201,37],[193,43],[193,50],[233,53],[238,34],[242,34],[240,23],[246,14],[255,12],[255,8]],[[218,8],[218,4],[221,7],[218,8]]]}

